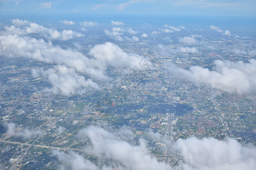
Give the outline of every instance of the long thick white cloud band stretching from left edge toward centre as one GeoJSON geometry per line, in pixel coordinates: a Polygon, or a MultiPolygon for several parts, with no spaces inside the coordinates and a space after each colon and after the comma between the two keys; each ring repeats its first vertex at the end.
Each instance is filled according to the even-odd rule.
{"type": "Polygon", "coordinates": [[[100,62],[74,50],[54,46],[51,42],[17,35],[3,35],[0,36],[0,44],[0,54],[7,57],[26,57],[47,63],[64,64],[94,78],[106,79],[102,70],[97,69],[101,67],[100,62]]]}

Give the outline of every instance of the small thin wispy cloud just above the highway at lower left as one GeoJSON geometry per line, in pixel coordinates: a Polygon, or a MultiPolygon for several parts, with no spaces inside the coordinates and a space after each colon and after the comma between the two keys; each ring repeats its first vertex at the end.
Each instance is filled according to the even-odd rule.
{"type": "Polygon", "coordinates": [[[23,129],[23,130],[16,130],[16,125],[14,123],[7,123],[3,124],[7,128],[7,134],[11,137],[22,137],[23,139],[30,139],[37,134],[42,133],[40,130],[30,130],[30,129],[23,129]]]}

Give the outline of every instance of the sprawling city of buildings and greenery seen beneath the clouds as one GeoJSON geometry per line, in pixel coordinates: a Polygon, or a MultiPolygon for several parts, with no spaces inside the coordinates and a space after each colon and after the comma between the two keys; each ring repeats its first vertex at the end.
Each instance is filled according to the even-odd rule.
{"type": "MultiPolygon", "coordinates": [[[[2,32],[10,25],[2,24],[2,32]]],[[[67,27],[57,30],[75,28],[67,27]]],[[[219,60],[253,63],[255,50],[254,54],[247,52],[255,49],[255,37],[240,32],[223,35],[211,25],[204,30],[193,25],[152,27],[145,23],[130,27],[110,22],[84,31],[77,28],[84,36],[47,42],[88,58],[93,58],[96,45],[113,42],[122,53],[140,57],[131,67],[107,63],[105,80],[76,70],[77,76],[93,79],[99,88],[54,90],[48,75],[35,76],[39,73],[35,70],[51,70],[55,62],[19,57],[23,53],[9,55],[1,49],[6,53],[0,53],[0,169],[57,169],[60,152],[75,152],[101,168],[128,166],[108,154],[95,154],[88,147],[92,145],[89,133],[82,133],[88,127],[105,129],[127,143],[143,139],[152,157],[173,168],[185,161],[172,147],[178,139],[232,138],[255,146],[255,93],[196,83],[181,76],[181,71],[172,71],[197,66],[210,72],[219,60]]],[[[48,41],[40,32],[30,37],[48,41]]]]}

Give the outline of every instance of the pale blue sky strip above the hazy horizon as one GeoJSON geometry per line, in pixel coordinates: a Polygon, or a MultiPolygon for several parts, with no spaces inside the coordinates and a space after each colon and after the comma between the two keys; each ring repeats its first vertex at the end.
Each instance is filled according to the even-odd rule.
{"type": "Polygon", "coordinates": [[[208,15],[256,16],[255,0],[32,1],[0,0],[2,16],[20,15],[208,15]]]}

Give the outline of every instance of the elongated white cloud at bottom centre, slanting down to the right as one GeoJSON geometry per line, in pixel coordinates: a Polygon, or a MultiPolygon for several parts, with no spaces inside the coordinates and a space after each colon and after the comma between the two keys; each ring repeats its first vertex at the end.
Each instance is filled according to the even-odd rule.
{"type": "Polygon", "coordinates": [[[142,139],[138,145],[131,145],[117,135],[95,126],[89,126],[80,133],[90,139],[92,152],[105,154],[107,158],[121,162],[125,169],[171,169],[168,164],[158,162],[148,153],[146,142],[142,139]]]}

